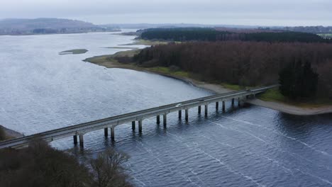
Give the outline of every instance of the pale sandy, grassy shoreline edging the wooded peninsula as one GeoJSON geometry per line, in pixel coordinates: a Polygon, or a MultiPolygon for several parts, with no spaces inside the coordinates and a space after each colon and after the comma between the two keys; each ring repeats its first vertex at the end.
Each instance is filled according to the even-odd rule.
{"type": "MultiPolygon", "coordinates": [[[[232,89],[226,89],[223,86],[219,84],[210,84],[206,83],[204,81],[198,81],[196,79],[191,79],[188,77],[182,77],[182,76],[176,76],[172,74],[162,73],[155,71],[153,69],[148,69],[144,67],[138,67],[134,64],[123,64],[119,62],[112,62],[111,60],[100,60],[101,57],[105,56],[111,56],[111,55],[104,55],[104,56],[97,56],[97,57],[91,57],[89,60],[94,61],[93,59],[96,59],[95,62],[90,62],[87,60],[84,60],[84,62],[90,62],[92,64],[96,64],[99,66],[103,66],[106,68],[120,68],[120,69],[131,69],[139,72],[147,72],[147,73],[153,73],[153,74],[159,74],[165,77],[171,77],[173,79],[179,79],[181,81],[185,81],[189,84],[192,84],[193,86],[196,86],[197,88],[206,89],[209,91],[212,91],[216,94],[224,94],[229,91],[234,91],[232,89]]],[[[301,108],[298,106],[291,106],[287,105],[286,103],[280,103],[275,101],[262,101],[258,98],[254,98],[248,101],[245,101],[245,103],[250,103],[255,106],[261,106],[265,108],[270,108],[275,111],[280,111],[282,113],[287,113],[291,115],[319,115],[319,114],[326,114],[326,113],[332,113],[332,106],[323,106],[319,108],[301,108]]]]}

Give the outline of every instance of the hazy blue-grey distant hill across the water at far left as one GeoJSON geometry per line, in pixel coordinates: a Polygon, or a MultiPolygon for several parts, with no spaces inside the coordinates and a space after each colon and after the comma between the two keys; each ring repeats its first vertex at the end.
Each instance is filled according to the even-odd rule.
{"type": "Polygon", "coordinates": [[[117,31],[114,28],[96,26],[92,23],[60,19],[3,19],[0,20],[0,35],[33,35],[52,33],[87,33],[117,31]]]}

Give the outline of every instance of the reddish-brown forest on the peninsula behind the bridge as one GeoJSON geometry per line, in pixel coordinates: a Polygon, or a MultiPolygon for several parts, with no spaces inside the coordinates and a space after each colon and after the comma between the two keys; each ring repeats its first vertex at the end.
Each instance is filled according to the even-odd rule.
{"type": "Polygon", "coordinates": [[[177,67],[204,81],[241,86],[276,84],[289,63],[309,62],[319,75],[318,93],[332,96],[332,45],[305,42],[183,42],[142,50],[133,60],[143,67],[177,67]]]}

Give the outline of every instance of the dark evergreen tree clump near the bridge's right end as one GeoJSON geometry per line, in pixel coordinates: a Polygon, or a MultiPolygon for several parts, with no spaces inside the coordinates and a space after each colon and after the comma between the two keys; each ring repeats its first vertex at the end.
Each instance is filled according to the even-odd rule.
{"type": "Polygon", "coordinates": [[[292,99],[309,98],[316,95],[318,74],[309,62],[289,63],[279,74],[280,92],[292,99]]]}

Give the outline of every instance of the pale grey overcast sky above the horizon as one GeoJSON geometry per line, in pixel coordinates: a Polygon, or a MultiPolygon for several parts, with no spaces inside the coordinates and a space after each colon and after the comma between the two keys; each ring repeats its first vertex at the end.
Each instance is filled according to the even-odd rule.
{"type": "Polygon", "coordinates": [[[332,0],[0,0],[0,18],[101,23],[332,26],[332,0]]]}

